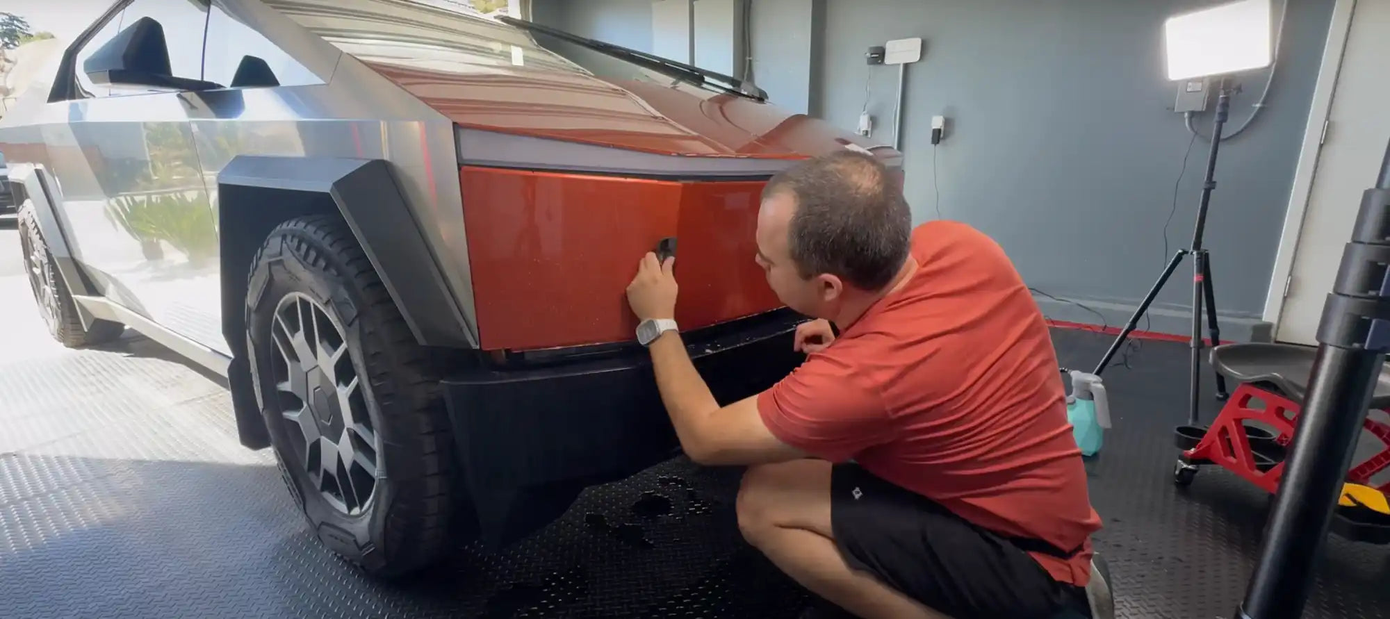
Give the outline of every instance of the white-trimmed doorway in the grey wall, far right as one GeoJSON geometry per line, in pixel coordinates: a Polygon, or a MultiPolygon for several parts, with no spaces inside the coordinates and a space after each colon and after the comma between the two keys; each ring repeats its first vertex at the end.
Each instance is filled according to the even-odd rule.
{"type": "MultiPolygon", "coordinates": [[[[1291,257],[1276,258],[1270,282],[1270,301],[1282,301],[1282,307],[1273,308],[1276,318],[1270,321],[1276,325],[1275,339],[1295,344],[1316,344],[1322,305],[1332,291],[1361,194],[1375,183],[1390,142],[1390,114],[1386,112],[1390,80],[1384,79],[1384,61],[1390,58],[1390,1],[1339,0],[1327,39],[1323,71],[1330,72],[1319,79],[1309,117],[1318,118],[1316,100],[1319,96],[1326,100],[1330,89],[1327,122],[1309,122],[1305,140],[1311,144],[1305,144],[1298,164],[1301,179],[1294,183],[1279,250],[1286,254],[1293,240],[1293,251],[1291,257]],[[1340,31],[1339,19],[1343,22],[1340,31]],[[1340,71],[1336,67],[1339,49],[1340,71]],[[1311,171],[1305,169],[1309,160],[1315,161],[1311,171]],[[1290,229],[1298,225],[1298,215],[1301,226],[1290,229]]],[[[1266,315],[1270,305],[1266,304],[1266,315]]]]}

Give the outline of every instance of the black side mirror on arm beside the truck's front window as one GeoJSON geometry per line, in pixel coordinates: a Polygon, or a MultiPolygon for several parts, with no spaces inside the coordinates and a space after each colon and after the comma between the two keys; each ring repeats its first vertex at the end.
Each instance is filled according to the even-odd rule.
{"type": "Polygon", "coordinates": [[[200,79],[175,78],[170,49],[160,22],[142,17],[106,42],[82,62],[92,83],[149,86],[174,90],[211,90],[221,86],[200,79]]]}

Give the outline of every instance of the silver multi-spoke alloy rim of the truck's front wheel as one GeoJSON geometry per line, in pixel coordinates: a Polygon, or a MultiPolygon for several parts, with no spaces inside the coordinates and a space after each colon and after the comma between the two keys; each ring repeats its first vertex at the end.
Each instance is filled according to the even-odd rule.
{"type": "Polygon", "coordinates": [[[359,515],[381,470],[381,441],[342,325],[313,298],[291,293],[275,307],[272,405],[278,404],[296,465],[329,505],[359,515]]]}

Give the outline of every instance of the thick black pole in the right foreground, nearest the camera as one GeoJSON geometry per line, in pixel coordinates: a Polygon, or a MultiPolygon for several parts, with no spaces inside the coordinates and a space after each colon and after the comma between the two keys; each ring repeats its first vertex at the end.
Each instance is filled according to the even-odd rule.
{"type": "Polygon", "coordinates": [[[1318,323],[1308,396],[1240,619],[1302,615],[1352,446],[1390,348],[1390,149],[1361,198],[1318,323]]]}

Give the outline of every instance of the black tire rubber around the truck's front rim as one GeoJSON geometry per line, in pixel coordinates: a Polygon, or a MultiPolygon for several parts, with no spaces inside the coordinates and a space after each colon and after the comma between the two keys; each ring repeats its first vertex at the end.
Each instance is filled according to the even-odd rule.
{"type": "MultiPolygon", "coordinates": [[[[257,401],[285,484],[314,533],[378,577],[399,577],[435,562],[464,533],[450,532],[461,493],[438,376],[348,226],[327,215],[281,223],[256,254],[247,283],[257,401]],[[359,386],[366,387],[363,400],[379,444],[374,491],[357,514],[331,502],[314,484],[306,458],[296,451],[304,450],[295,443],[304,444],[303,426],[286,421],[285,404],[278,401],[272,364],[285,364],[288,357],[272,341],[275,312],[288,307],[281,305],[284,300],[303,303],[304,297],[341,326],[338,346],[346,346],[359,386]]],[[[297,400],[289,401],[293,408],[297,400]]]]}

